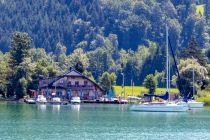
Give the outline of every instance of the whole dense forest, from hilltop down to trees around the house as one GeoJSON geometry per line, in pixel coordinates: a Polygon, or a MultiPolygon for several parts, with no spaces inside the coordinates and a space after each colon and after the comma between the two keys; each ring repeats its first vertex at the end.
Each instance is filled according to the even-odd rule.
{"type": "MultiPolygon", "coordinates": [[[[0,0],[0,9],[1,93],[8,85],[35,89],[38,75],[55,76],[78,63],[99,83],[110,74],[121,85],[123,73],[125,85],[142,85],[154,74],[164,87],[166,24],[182,75],[189,62],[208,79],[210,0],[0,0]],[[205,4],[204,15],[196,13],[198,4],[205,4]],[[14,65],[17,32],[27,34],[19,41],[28,40],[31,49],[14,65]],[[14,79],[12,70],[25,74],[14,79]]],[[[176,79],[174,65],[171,73],[176,79]]]]}

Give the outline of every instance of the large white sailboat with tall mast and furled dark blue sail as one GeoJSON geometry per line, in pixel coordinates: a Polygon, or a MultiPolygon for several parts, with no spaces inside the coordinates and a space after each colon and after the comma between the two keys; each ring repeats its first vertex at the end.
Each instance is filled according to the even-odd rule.
{"type": "Polygon", "coordinates": [[[189,109],[186,103],[176,104],[170,102],[170,60],[169,60],[169,49],[168,49],[168,27],[166,26],[166,93],[163,95],[145,94],[146,97],[159,97],[164,102],[147,102],[140,103],[138,105],[131,106],[133,111],[144,111],[144,112],[185,112],[189,109]]]}

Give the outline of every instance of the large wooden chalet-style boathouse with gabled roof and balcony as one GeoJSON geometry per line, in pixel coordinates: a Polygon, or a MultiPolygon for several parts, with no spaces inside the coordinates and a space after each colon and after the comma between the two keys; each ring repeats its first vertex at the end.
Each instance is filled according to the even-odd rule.
{"type": "Polygon", "coordinates": [[[94,100],[102,96],[102,88],[84,74],[70,68],[62,75],[39,81],[39,94],[46,97],[71,99],[80,97],[82,100],[94,100]]]}

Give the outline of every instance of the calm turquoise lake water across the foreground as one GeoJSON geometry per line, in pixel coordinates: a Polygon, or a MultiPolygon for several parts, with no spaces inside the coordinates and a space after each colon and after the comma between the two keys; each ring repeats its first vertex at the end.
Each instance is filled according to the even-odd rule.
{"type": "Polygon", "coordinates": [[[0,103],[2,140],[209,140],[210,108],[132,112],[127,105],[0,103]]]}

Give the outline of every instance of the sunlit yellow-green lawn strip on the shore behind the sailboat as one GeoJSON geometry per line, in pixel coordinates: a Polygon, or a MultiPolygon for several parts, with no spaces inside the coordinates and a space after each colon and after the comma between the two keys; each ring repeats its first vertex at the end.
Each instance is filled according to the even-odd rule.
{"type": "MultiPolygon", "coordinates": [[[[115,96],[123,96],[122,95],[122,86],[113,86],[112,87],[114,90],[115,96]]],[[[166,89],[165,88],[157,88],[155,94],[163,94],[165,93],[166,89]]],[[[171,88],[171,93],[179,93],[178,89],[171,88]]],[[[134,86],[133,87],[133,94],[132,94],[132,87],[131,86],[125,86],[125,97],[127,98],[128,96],[142,96],[144,93],[148,93],[148,90],[145,87],[141,86],[134,86]]]]}

